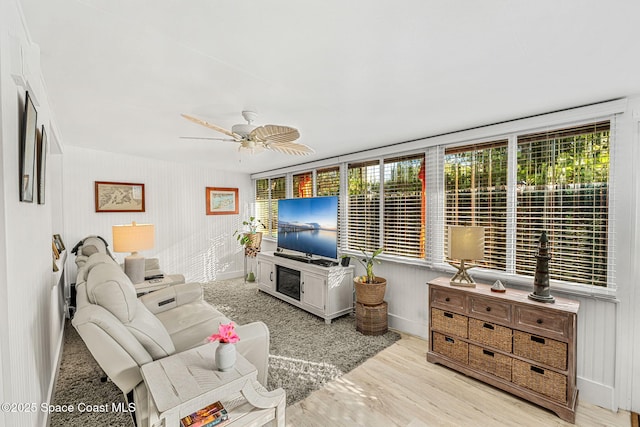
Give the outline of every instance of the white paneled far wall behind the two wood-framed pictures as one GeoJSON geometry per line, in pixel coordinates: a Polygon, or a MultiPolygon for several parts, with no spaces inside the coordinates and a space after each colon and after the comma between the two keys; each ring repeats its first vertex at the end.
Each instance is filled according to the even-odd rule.
{"type": "MultiPolygon", "coordinates": [[[[63,169],[64,238],[68,247],[97,234],[113,249],[111,226],[132,221],[151,223],[155,225],[155,247],[141,255],[160,258],[165,273],[181,273],[196,282],[242,275],[242,248],[233,232],[242,229],[253,200],[247,174],[76,147],[66,147],[63,169]],[[95,212],[95,181],[144,184],[145,212],[95,212]],[[238,188],[240,213],[206,215],[206,187],[238,188]]],[[[114,255],[122,262],[128,254],[114,255]]],[[[69,266],[69,271],[74,272],[75,266],[69,266]]]]}

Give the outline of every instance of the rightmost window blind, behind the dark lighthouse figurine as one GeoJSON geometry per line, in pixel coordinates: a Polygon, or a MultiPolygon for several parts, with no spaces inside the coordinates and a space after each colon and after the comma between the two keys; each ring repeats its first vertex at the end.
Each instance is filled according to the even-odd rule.
{"type": "Polygon", "coordinates": [[[518,137],[516,273],[547,232],[552,279],[607,285],[610,122],[518,137]]]}

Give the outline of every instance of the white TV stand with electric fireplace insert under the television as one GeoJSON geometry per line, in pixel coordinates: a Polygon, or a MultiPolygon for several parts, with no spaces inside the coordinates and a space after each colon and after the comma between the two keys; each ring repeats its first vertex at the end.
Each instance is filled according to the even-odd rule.
{"type": "Polygon", "coordinates": [[[274,256],[273,252],[260,252],[257,259],[259,290],[322,317],[327,324],[336,317],[352,312],[354,271],[352,266],[323,267],[274,256]],[[283,293],[287,290],[279,286],[279,275],[288,275],[288,284],[294,285],[299,277],[299,295],[296,295],[295,289],[293,295],[283,293]]]}

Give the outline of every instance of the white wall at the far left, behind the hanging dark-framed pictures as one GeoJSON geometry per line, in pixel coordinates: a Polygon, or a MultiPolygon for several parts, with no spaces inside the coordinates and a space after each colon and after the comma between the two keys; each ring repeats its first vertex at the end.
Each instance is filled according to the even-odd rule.
{"type": "MultiPolygon", "coordinates": [[[[49,131],[50,125],[38,49],[30,44],[21,16],[16,2],[0,2],[0,400],[34,403],[38,410],[2,411],[0,426],[45,424],[39,405],[49,401],[53,390],[63,327],[51,252],[52,234],[61,233],[61,224],[52,220],[51,202],[59,194],[49,191],[45,205],[19,201],[27,85],[37,100],[38,127],[44,124],[49,131]]],[[[50,179],[55,177],[47,171],[50,179]]]]}

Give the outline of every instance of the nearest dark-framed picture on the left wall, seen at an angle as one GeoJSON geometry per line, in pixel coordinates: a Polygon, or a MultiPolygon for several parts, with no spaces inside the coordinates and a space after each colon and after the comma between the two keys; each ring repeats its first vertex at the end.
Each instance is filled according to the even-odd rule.
{"type": "Polygon", "coordinates": [[[22,135],[20,138],[20,201],[33,203],[36,139],[37,139],[37,112],[33,101],[26,92],[24,100],[24,115],[22,117],[22,135]]]}

